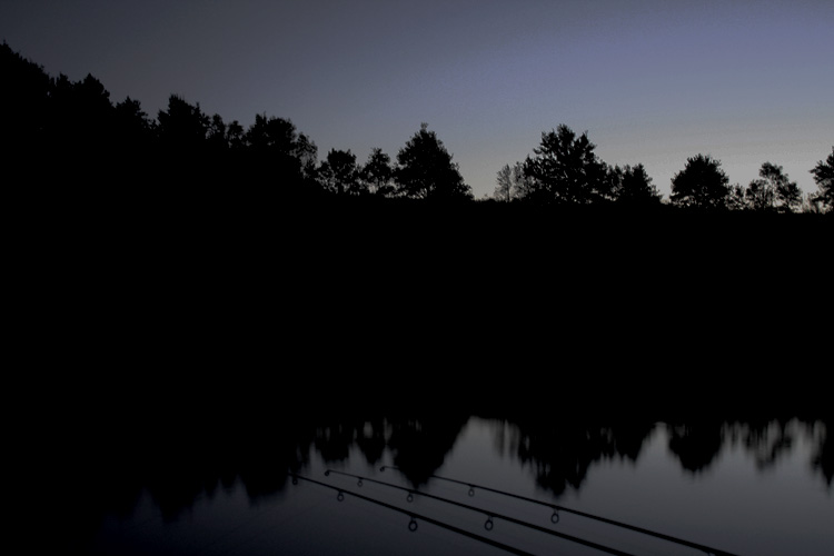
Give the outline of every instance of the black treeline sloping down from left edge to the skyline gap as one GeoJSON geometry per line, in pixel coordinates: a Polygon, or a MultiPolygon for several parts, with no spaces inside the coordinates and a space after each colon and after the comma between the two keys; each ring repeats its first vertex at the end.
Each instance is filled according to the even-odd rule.
{"type": "Polygon", "coordinates": [[[50,77],[6,43],[0,75],[7,83],[0,98],[4,180],[18,189],[71,189],[83,197],[106,187],[109,197],[93,199],[102,207],[112,198],[206,202],[218,193],[220,203],[252,205],[327,196],[471,199],[451,155],[426,125],[396,163],[380,149],[364,165],[350,150],[331,150],[319,161],[316,145],[288,119],[256,115],[245,128],[177,95],[152,118],[129,97],[113,103],[93,76],[76,82],[50,77]]]}

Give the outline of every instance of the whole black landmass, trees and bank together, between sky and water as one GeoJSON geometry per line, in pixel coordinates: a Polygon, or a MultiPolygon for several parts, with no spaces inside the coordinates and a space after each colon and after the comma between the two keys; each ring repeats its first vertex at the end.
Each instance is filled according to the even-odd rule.
{"type": "Polygon", "coordinates": [[[773,210],[724,210],[727,180],[708,157],[661,203],[642,166],[609,168],[559,127],[510,169],[518,202],[477,202],[425,126],[396,163],[380,150],[319,161],[288,120],[245,128],[176,96],[151,119],[7,44],[0,69],[4,192],[29,201],[8,203],[22,215],[16,270],[37,291],[23,322],[53,336],[48,351],[36,338],[44,359],[117,365],[149,396],[171,374],[257,390],[256,370],[226,369],[267,360],[310,400],[370,383],[415,400],[539,390],[530,377],[490,386],[487,369],[600,399],[583,389],[589,374],[612,390],[652,374],[712,400],[727,366],[775,367],[774,391],[820,397],[832,220],[780,214],[792,206],[775,192],[773,210]]]}

